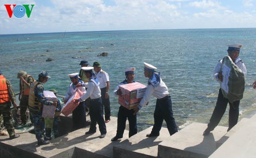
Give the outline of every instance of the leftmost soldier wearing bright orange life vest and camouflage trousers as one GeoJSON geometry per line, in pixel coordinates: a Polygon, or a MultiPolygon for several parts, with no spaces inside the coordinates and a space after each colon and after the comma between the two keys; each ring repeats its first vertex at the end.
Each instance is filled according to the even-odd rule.
{"type": "Polygon", "coordinates": [[[11,82],[6,79],[0,71],[0,115],[3,115],[4,124],[10,139],[18,138],[20,135],[15,134],[13,126],[13,115],[11,113],[11,105],[17,107],[15,93],[11,82]]]}

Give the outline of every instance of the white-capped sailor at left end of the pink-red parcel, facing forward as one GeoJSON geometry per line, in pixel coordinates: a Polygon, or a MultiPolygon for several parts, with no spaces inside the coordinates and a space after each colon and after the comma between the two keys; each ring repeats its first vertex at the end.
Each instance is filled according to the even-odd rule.
{"type": "MultiPolygon", "coordinates": [[[[70,83],[67,88],[67,93],[64,97],[64,104],[67,103],[67,100],[73,96],[77,89],[79,89],[81,92],[86,92],[85,87],[75,87],[77,84],[84,83],[83,81],[78,79],[78,74],[79,73],[72,73],[68,75],[72,83],[70,83]]],[[[72,131],[78,130],[86,126],[86,109],[84,100],[82,100],[72,112],[72,122],[72,131]]]]}

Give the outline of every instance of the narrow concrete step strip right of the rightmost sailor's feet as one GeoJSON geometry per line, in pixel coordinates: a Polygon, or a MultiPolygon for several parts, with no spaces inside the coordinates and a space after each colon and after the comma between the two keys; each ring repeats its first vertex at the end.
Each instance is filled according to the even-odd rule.
{"type": "Polygon", "coordinates": [[[249,118],[243,118],[229,132],[227,132],[220,140],[216,142],[216,148],[219,148],[229,137],[249,121],[249,118]]]}

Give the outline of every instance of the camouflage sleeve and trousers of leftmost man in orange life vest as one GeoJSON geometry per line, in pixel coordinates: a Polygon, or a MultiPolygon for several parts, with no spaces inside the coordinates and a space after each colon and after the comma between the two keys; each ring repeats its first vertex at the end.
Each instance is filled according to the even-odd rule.
{"type": "MultiPolygon", "coordinates": [[[[15,99],[15,93],[13,91],[13,87],[11,85],[11,82],[6,79],[6,85],[9,93],[9,97],[11,99],[12,104],[16,104],[16,99],[15,99]]],[[[6,103],[0,103],[0,115],[3,115],[3,121],[6,126],[7,132],[10,137],[15,136],[14,132],[14,126],[13,126],[13,115],[11,113],[11,102],[6,102],[6,103]]]]}

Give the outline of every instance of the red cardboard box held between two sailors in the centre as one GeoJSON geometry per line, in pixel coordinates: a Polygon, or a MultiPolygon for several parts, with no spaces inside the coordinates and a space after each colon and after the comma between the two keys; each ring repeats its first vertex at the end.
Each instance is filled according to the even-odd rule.
{"type": "Polygon", "coordinates": [[[121,89],[122,95],[118,97],[118,104],[130,110],[139,105],[146,92],[147,86],[142,85],[139,82],[134,82],[121,85],[119,88],[121,89]]]}

